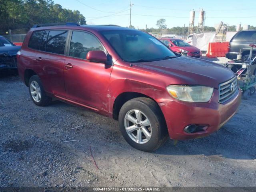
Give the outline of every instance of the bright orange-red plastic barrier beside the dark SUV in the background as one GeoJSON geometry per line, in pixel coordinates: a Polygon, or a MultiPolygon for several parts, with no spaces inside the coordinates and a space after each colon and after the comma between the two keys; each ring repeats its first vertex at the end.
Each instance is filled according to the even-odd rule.
{"type": "Polygon", "coordinates": [[[213,42],[208,44],[206,57],[224,57],[228,52],[229,42],[213,42]]]}

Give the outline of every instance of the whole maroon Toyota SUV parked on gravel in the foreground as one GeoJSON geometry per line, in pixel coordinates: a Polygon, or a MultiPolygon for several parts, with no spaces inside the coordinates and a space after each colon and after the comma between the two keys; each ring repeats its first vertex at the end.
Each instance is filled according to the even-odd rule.
{"type": "Polygon", "coordinates": [[[240,104],[231,70],[180,56],[140,30],[36,25],[17,54],[36,105],[56,98],[113,117],[139,150],[156,150],[168,135],[174,141],[207,136],[240,104]]]}

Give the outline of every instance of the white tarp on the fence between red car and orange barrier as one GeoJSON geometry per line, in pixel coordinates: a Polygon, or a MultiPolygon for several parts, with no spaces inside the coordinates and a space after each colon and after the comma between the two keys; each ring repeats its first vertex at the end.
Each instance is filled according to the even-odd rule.
{"type": "Polygon", "coordinates": [[[215,42],[215,32],[199,34],[194,33],[191,44],[196,46],[201,51],[206,51],[208,49],[209,42],[215,42]]]}

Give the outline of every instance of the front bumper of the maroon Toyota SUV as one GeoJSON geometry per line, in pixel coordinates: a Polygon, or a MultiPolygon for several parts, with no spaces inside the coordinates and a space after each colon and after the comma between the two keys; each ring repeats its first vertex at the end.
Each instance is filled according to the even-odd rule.
{"type": "Polygon", "coordinates": [[[164,114],[170,138],[185,140],[204,137],[218,130],[236,113],[240,102],[240,89],[223,104],[218,103],[218,90],[214,89],[213,96],[207,103],[171,99],[159,103],[159,106],[164,114]],[[198,132],[186,133],[184,128],[190,124],[204,128],[198,132]]]}

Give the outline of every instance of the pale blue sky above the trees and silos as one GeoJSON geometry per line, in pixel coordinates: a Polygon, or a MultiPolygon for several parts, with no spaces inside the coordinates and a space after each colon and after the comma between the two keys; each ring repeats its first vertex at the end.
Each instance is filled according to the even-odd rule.
{"type": "MultiPolygon", "coordinates": [[[[130,25],[130,0],[54,0],[62,8],[79,10],[87,24],[130,25]]],[[[168,28],[188,26],[190,10],[205,10],[205,25],[223,21],[229,25],[256,26],[256,0],[132,0],[132,25],[136,28],[156,28],[158,19],[166,19],[168,28]]]]}

